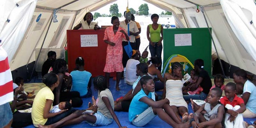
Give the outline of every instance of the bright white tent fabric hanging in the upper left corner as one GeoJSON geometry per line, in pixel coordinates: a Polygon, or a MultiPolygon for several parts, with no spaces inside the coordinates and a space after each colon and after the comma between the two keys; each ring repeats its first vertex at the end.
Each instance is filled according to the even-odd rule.
{"type": "Polygon", "coordinates": [[[36,7],[36,2],[37,0],[22,0],[17,2],[19,6],[16,6],[16,2],[13,3],[15,6],[8,15],[10,21],[5,22],[0,33],[2,46],[8,53],[9,62],[12,60],[28,28],[36,7]]]}

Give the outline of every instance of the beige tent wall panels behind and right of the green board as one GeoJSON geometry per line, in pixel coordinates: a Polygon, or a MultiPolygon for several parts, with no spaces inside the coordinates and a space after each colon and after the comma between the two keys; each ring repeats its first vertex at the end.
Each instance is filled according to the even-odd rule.
{"type": "MultiPolygon", "coordinates": [[[[226,16],[223,13],[221,5],[204,7],[204,10],[209,27],[213,30],[212,35],[220,59],[230,63],[231,65],[256,74],[256,62],[252,58],[253,54],[248,54],[247,50],[237,39],[226,20],[226,16]]],[[[191,17],[196,18],[200,28],[207,27],[202,13],[196,13],[195,9],[184,9],[184,12],[187,17],[187,22],[191,28],[197,27],[191,20],[191,17]]],[[[215,52],[216,51],[213,47],[212,53],[214,54],[215,52]]]]}

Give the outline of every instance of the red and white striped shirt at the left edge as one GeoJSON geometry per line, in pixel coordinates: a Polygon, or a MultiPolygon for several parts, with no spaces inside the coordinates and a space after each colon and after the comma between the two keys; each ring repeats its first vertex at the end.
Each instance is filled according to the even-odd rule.
{"type": "Polygon", "coordinates": [[[13,100],[13,78],[6,51],[0,45],[0,105],[13,100]]]}

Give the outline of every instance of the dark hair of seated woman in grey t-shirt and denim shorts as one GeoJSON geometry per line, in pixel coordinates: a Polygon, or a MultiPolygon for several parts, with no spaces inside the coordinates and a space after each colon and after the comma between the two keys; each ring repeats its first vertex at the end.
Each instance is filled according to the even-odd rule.
{"type": "Polygon", "coordinates": [[[107,88],[106,78],[102,75],[96,76],[93,80],[94,89],[104,91],[107,88]]]}

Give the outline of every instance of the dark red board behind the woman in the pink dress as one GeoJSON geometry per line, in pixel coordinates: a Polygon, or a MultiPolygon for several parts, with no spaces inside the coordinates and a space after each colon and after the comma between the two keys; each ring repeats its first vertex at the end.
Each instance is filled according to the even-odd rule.
{"type": "Polygon", "coordinates": [[[103,75],[106,64],[107,45],[104,38],[105,29],[100,30],[67,30],[67,57],[69,72],[76,67],[76,59],[80,56],[85,60],[85,70],[92,77],[103,75]],[[98,47],[81,47],[80,35],[98,35],[98,47]]]}

